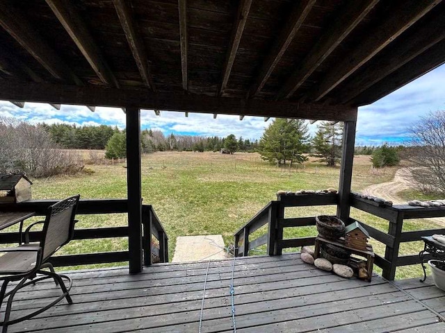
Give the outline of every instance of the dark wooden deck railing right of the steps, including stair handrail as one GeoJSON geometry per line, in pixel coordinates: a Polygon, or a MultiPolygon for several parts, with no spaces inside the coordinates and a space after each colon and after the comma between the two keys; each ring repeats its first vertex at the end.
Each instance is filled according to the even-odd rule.
{"type": "MultiPolygon", "coordinates": [[[[284,219],[286,207],[304,207],[316,205],[337,205],[337,194],[302,194],[297,196],[278,196],[277,201],[270,201],[257,215],[255,215],[243,228],[235,234],[235,254],[246,256],[249,251],[258,246],[267,244],[268,255],[281,255],[284,248],[293,248],[305,245],[314,245],[315,237],[300,237],[296,239],[283,239],[284,228],[315,225],[315,216],[284,219]],[[268,231],[253,241],[250,235],[264,225],[268,225],[268,231]]],[[[445,229],[417,230],[403,232],[404,219],[424,219],[445,216],[445,207],[412,207],[409,205],[394,205],[392,207],[379,205],[371,200],[366,200],[350,195],[350,207],[355,207],[369,214],[379,216],[389,221],[387,232],[383,232],[363,221],[349,219],[346,224],[353,221],[359,222],[366,228],[369,235],[385,244],[385,256],[375,255],[375,264],[382,268],[382,275],[388,280],[394,280],[396,267],[419,264],[419,255],[399,256],[400,244],[407,241],[420,241],[422,236],[443,234],[445,229]]],[[[422,248],[419,248],[419,251],[422,248]]]]}

